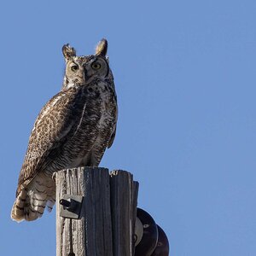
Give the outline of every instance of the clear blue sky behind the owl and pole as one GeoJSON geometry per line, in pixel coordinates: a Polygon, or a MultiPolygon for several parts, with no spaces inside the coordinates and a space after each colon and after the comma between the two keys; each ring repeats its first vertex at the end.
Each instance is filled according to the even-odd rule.
{"type": "Polygon", "coordinates": [[[55,211],[9,212],[62,45],[87,55],[103,37],[119,124],[102,166],[134,174],[172,256],[256,255],[255,14],[255,0],[3,1],[1,255],[55,255],[55,211]]]}

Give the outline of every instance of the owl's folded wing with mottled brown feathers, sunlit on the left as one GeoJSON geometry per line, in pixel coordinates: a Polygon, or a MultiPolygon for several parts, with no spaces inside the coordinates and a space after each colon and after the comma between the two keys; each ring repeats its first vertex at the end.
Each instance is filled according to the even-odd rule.
{"type": "Polygon", "coordinates": [[[38,114],[20,170],[17,195],[41,171],[47,156],[60,147],[68,133],[74,132],[74,123],[79,118],[76,97],[77,94],[61,91],[38,114]]]}

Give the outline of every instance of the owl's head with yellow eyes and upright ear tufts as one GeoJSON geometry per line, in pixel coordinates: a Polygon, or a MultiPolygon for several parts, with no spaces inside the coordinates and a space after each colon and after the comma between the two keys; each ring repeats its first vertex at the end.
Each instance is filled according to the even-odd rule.
{"type": "Polygon", "coordinates": [[[63,88],[68,89],[74,84],[90,84],[95,79],[108,79],[112,73],[108,66],[107,50],[106,39],[97,44],[95,55],[88,56],[77,56],[73,47],[63,45],[62,53],[66,61],[63,88]]]}

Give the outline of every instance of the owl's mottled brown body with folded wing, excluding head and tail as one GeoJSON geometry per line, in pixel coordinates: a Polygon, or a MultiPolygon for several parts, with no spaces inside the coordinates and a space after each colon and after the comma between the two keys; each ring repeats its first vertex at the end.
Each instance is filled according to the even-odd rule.
{"type": "Polygon", "coordinates": [[[96,80],[61,90],[38,115],[16,194],[39,172],[51,175],[67,166],[75,167],[78,159],[90,159],[94,161],[90,164],[97,165],[113,143],[116,121],[117,101],[112,83],[96,80]]]}

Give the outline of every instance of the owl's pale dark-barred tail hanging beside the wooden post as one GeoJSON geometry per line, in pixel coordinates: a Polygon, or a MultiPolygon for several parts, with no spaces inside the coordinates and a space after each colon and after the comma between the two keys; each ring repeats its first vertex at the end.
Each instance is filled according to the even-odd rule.
{"type": "Polygon", "coordinates": [[[55,183],[52,179],[37,176],[20,191],[11,211],[11,218],[17,222],[42,217],[45,207],[52,210],[55,204],[55,183]]]}

